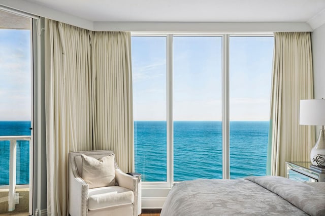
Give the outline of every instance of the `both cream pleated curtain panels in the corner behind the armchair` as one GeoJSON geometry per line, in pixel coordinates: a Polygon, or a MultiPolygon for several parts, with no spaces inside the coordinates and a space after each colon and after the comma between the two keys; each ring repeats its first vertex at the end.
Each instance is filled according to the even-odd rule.
{"type": "Polygon", "coordinates": [[[112,149],[134,171],[130,41],[46,19],[48,215],[69,215],[69,152],[112,149]]]}

